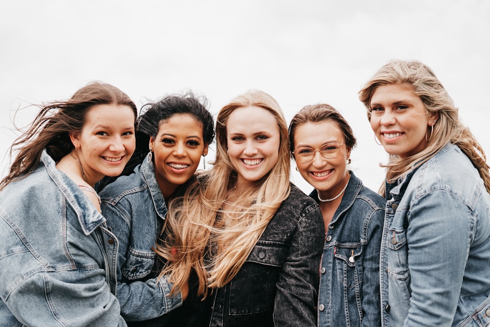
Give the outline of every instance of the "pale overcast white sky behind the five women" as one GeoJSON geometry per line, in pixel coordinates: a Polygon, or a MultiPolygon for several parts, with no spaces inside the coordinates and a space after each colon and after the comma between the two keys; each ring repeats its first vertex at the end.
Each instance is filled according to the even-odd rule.
{"type": "MultiPolygon", "coordinates": [[[[138,108],[191,89],[208,97],[215,116],[239,93],[260,89],[288,124],[304,105],[329,103],[358,138],[351,169],[376,190],[387,156],[357,92],[393,58],[435,70],[490,154],[488,0],[1,1],[1,176],[17,108],[67,99],[101,80],[138,108]]],[[[21,110],[16,125],[35,113],[21,110]]],[[[292,178],[312,189],[294,170],[292,178]]]]}

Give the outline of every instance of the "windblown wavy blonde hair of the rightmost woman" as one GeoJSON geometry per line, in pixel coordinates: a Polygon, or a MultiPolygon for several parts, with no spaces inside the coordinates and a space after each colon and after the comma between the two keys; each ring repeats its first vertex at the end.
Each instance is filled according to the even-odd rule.
{"type": "MultiPolygon", "coordinates": [[[[442,86],[436,74],[419,61],[392,60],[366,83],[359,91],[359,99],[367,108],[368,120],[371,120],[370,102],[375,90],[382,85],[408,83],[412,91],[420,97],[428,114],[439,115],[433,131],[427,131],[430,139],[425,149],[407,158],[390,156],[386,178],[393,182],[412,169],[432,158],[441,148],[451,142],[457,145],[471,160],[490,193],[490,174],[487,158],[482,146],[476,141],[469,129],[463,125],[458,108],[442,86]],[[415,164],[417,163],[417,164],[415,164]],[[415,165],[414,165],[415,164],[415,165]]],[[[385,195],[384,185],[380,193],[385,195]]]]}

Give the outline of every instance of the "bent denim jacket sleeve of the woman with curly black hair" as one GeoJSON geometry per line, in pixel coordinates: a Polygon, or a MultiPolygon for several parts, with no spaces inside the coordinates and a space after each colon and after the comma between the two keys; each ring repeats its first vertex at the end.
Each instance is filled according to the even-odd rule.
{"type": "Polygon", "coordinates": [[[117,206],[102,201],[102,214],[119,241],[116,277],[116,297],[121,304],[121,315],[127,321],[143,321],[160,317],[182,304],[182,294],[170,295],[172,284],[166,278],[157,281],[123,280],[122,267],[127,260],[131,240],[131,217],[117,206]]]}

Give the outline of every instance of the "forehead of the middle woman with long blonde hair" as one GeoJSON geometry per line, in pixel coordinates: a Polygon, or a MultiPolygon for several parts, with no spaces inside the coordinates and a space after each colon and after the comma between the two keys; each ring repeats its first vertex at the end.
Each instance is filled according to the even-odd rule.
{"type": "Polygon", "coordinates": [[[240,107],[233,110],[226,122],[228,133],[253,133],[254,131],[279,131],[276,118],[264,108],[240,107]]]}

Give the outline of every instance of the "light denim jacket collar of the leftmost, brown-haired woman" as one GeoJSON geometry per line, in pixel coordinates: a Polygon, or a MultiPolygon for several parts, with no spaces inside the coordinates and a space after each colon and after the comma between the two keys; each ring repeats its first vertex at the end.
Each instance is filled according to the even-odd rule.
{"type": "Polygon", "coordinates": [[[48,155],[46,149],[41,153],[41,162],[44,163],[49,177],[66,197],[67,202],[73,208],[85,235],[90,235],[105,222],[105,218],[94,207],[89,198],[83,194],[80,187],[63,172],[56,168],[56,163],[48,155]]]}

